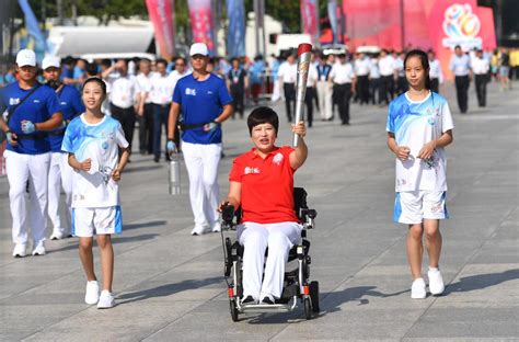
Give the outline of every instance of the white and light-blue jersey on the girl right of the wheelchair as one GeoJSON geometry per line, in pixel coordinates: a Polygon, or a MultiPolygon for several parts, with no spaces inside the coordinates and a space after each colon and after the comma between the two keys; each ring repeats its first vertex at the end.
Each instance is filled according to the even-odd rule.
{"type": "Polygon", "coordinates": [[[403,93],[390,103],[385,130],[394,134],[399,146],[411,149],[407,160],[396,158],[396,192],[447,190],[445,149],[436,148],[428,160],[416,156],[425,144],[452,128],[449,104],[437,93],[429,92],[423,101],[412,101],[403,93]]]}

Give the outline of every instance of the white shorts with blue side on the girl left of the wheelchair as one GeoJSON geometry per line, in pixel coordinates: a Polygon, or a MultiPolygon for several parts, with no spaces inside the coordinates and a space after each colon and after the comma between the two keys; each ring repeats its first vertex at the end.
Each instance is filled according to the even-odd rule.
{"type": "Polygon", "coordinates": [[[96,235],[119,233],[123,231],[120,206],[103,208],[73,208],[72,235],[91,238],[96,235]]]}

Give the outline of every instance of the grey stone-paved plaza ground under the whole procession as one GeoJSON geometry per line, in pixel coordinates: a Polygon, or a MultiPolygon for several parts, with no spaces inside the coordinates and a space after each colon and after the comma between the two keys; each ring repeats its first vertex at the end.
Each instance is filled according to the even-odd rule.
{"type": "MultiPolygon", "coordinates": [[[[410,298],[406,228],[392,223],[394,157],[385,146],[387,107],[351,106],[351,126],[316,121],[296,184],[319,212],[311,280],[319,317],[250,314],[232,322],[219,233],[192,237],[182,195],[168,194],[168,164],[131,157],[123,173],[124,232],[114,238],[117,306],[83,303],[76,238],[47,241],[47,255],[11,256],[8,182],[0,178],[0,341],[519,341],[519,84],[488,88],[478,109],[473,84],[448,147],[448,207],[441,224],[441,297],[410,298]]],[[[279,142],[290,144],[284,104],[279,142]]],[[[137,137],[136,137],[137,140],[137,137]]],[[[251,148],[244,121],[224,124],[221,194],[232,159],[251,148]]],[[[266,190],[268,191],[268,190],[266,190]]],[[[94,249],[97,275],[99,251],[94,249]]],[[[426,274],[427,258],[424,260],[426,274]]]]}

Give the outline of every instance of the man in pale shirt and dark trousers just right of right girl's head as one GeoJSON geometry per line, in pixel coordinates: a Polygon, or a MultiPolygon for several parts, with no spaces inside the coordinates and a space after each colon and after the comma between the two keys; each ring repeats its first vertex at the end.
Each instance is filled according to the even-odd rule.
{"type": "Polygon", "coordinates": [[[461,46],[454,47],[454,55],[450,60],[450,70],[454,73],[455,94],[461,114],[469,110],[469,86],[471,83],[471,59],[463,53],[461,46]]]}

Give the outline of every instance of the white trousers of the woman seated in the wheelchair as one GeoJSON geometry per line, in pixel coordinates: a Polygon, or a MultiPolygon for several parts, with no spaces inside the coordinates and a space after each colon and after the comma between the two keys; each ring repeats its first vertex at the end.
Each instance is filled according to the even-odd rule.
{"type": "Polygon", "coordinates": [[[260,225],[243,223],[238,226],[238,240],[243,251],[243,297],[262,300],[265,296],[280,298],[288,252],[301,238],[298,223],[260,225]],[[265,250],[268,258],[265,264],[265,250]],[[263,266],[265,277],[262,284],[263,266]]]}

